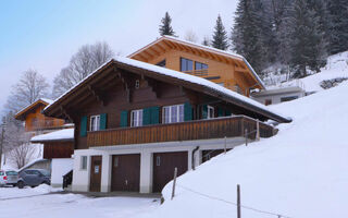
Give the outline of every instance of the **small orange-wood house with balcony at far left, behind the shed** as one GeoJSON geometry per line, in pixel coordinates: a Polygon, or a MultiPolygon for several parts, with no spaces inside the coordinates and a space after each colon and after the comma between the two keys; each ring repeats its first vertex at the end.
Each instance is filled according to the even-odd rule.
{"type": "Polygon", "coordinates": [[[14,118],[16,120],[24,121],[25,131],[32,133],[33,135],[63,129],[64,120],[49,118],[41,113],[44,108],[51,102],[52,100],[50,99],[40,98],[17,112],[14,118]]]}

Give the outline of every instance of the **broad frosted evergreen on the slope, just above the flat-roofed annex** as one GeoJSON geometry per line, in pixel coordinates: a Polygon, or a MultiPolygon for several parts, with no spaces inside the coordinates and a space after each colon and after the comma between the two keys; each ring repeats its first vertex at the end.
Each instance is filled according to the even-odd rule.
{"type": "Polygon", "coordinates": [[[290,65],[296,70],[295,76],[307,76],[307,68],[319,72],[326,63],[319,17],[307,2],[295,0],[291,21],[290,65]]]}

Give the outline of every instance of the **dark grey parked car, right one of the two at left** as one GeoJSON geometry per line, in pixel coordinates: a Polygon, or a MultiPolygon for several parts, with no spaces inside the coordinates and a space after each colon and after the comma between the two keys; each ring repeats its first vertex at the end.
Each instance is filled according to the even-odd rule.
{"type": "Polygon", "coordinates": [[[40,184],[51,184],[51,174],[44,169],[26,169],[20,172],[17,186],[23,189],[28,185],[35,187],[40,184]]]}

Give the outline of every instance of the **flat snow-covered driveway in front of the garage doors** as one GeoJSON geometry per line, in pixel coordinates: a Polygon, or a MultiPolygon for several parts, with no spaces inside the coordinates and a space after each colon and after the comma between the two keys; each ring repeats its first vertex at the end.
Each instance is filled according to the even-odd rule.
{"type": "Polygon", "coordinates": [[[121,218],[147,216],[159,206],[159,199],[144,197],[86,197],[59,194],[48,185],[35,189],[1,187],[0,218],[121,218]]]}

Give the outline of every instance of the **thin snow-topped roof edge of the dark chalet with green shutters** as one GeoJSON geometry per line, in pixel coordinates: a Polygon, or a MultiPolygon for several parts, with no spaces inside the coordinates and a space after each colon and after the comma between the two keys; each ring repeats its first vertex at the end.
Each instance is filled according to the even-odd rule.
{"type": "Polygon", "coordinates": [[[213,90],[213,92],[217,92],[219,94],[221,94],[221,95],[223,95],[225,97],[233,98],[234,100],[240,101],[240,102],[243,102],[245,105],[249,105],[249,106],[258,109],[258,111],[260,113],[264,113],[265,112],[265,113],[272,114],[273,117],[277,117],[279,120],[283,120],[284,122],[290,122],[291,121],[290,118],[287,118],[286,116],[282,116],[282,114],[277,113],[275,111],[272,111],[270,108],[268,108],[266,106],[264,106],[264,105],[262,105],[260,102],[257,102],[256,100],[252,100],[252,99],[250,99],[250,98],[248,98],[246,96],[243,96],[243,95],[240,95],[240,94],[238,94],[236,92],[227,89],[227,88],[225,88],[225,87],[223,87],[223,86],[221,86],[221,85],[219,85],[216,83],[210,82],[210,81],[208,81],[206,78],[198,77],[198,76],[195,76],[195,75],[189,75],[189,74],[182,73],[182,72],[178,72],[178,71],[165,69],[165,68],[162,68],[162,66],[158,66],[158,65],[154,65],[154,64],[150,64],[150,63],[146,63],[146,62],[141,62],[141,61],[137,61],[137,60],[134,60],[134,59],[124,58],[124,57],[117,57],[115,59],[111,59],[109,62],[105,62],[103,65],[101,65],[99,69],[95,70],[92,73],[90,73],[88,76],[86,76],[83,81],[80,81],[74,87],[72,87],[71,89],[65,92],[61,97],[57,98],[51,105],[47,106],[45,108],[45,111],[47,109],[49,109],[51,106],[53,106],[61,98],[65,97],[70,92],[72,92],[73,89],[77,88],[77,86],[83,84],[85,81],[87,81],[91,76],[94,76],[97,72],[99,72],[100,69],[104,68],[105,65],[112,64],[112,63],[130,65],[130,66],[135,66],[135,68],[138,68],[138,69],[144,69],[144,70],[151,71],[151,72],[154,72],[154,73],[159,73],[159,74],[162,74],[162,75],[165,75],[165,76],[170,76],[170,77],[178,78],[178,80],[182,80],[182,81],[186,81],[186,82],[189,82],[189,83],[192,83],[192,84],[201,85],[204,88],[208,88],[208,89],[213,90]]]}

